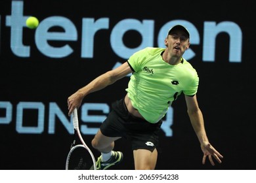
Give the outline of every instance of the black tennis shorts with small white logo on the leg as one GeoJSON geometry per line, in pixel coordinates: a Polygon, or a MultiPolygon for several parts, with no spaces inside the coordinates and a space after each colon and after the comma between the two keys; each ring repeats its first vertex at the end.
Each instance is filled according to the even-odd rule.
{"type": "Polygon", "coordinates": [[[146,149],[153,152],[158,146],[158,133],[162,120],[152,124],[131,116],[124,98],[112,104],[112,111],[100,126],[100,131],[107,137],[125,137],[131,140],[132,149],[146,149]]]}

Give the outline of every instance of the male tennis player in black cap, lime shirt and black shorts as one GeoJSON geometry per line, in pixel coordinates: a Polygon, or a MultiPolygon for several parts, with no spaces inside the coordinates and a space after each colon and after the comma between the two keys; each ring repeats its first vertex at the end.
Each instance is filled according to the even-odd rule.
{"type": "Polygon", "coordinates": [[[158,132],[162,118],[177,97],[183,93],[188,116],[203,152],[202,163],[209,158],[221,163],[223,156],[210,144],[204,127],[203,114],[196,93],[199,77],[196,70],[182,58],[190,46],[190,33],[182,25],[169,29],[166,48],[144,48],[135,52],[123,65],[98,76],[68,97],[68,114],[78,108],[89,93],[102,90],[132,73],[127,94],[114,102],[112,111],[93,139],[92,146],[101,152],[97,169],[108,169],[120,163],[122,152],[114,151],[114,142],[130,138],[135,169],[155,169],[158,158],[158,132]]]}

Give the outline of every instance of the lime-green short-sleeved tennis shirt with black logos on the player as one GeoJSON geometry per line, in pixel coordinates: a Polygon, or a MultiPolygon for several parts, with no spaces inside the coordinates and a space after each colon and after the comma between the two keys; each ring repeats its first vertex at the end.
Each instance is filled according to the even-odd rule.
{"type": "Polygon", "coordinates": [[[165,48],[144,48],[127,61],[133,70],[126,89],[134,108],[150,123],[165,116],[177,97],[195,95],[199,78],[196,70],[182,58],[178,65],[163,61],[165,48]]]}

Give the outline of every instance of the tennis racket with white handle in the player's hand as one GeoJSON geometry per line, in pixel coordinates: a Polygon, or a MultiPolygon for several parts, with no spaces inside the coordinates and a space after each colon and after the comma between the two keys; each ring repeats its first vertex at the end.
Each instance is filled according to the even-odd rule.
{"type": "Polygon", "coordinates": [[[79,130],[77,108],[72,112],[72,121],[74,125],[74,139],[66,159],[66,170],[96,170],[95,156],[93,156],[93,152],[83,141],[79,130]],[[80,144],[77,144],[77,140],[80,141],[80,144]]]}

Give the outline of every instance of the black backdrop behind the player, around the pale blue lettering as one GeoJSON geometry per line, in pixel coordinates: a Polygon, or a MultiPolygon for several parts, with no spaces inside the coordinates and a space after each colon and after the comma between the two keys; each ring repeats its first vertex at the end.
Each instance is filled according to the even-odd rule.
{"type": "MultiPolygon", "coordinates": [[[[253,59],[255,30],[252,27],[255,21],[252,1],[24,1],[24,15],[34,15],[39,20],[65,16],[76,25],[78,41],[70,42],[74,53],[61,59],[43,56],[35,46],[34,31],[29,29],[24,29],[24,44],[31,46],[30,58],[15,56],[10,48],[10,27],[5,25],[5,16],[11,14],[11,1],[1,0],[0,14],[0,101],[11,101],[13,106],[11,124],[0,124],[0,169],[65,169],[72,135],[61,125],[56,126],[54,135],[47,130],[40,135],[17,133],[16,105],[20,101],[43,102],[46,126],[50,102],[58,103],[68,118],[66,101],[69,95],[112,69],[117,60],[125,62],[110,48],[110,31],[96,37],[91,61],[81,58],[81,20],[85,17],[108,17],[110,29],[124,18],[155,20],[155,32],[165,22],[184,19],[198,28],[201,40],[205,21],[238,24],[243,33],[241,63],[228,62],[229,40],[224,35],[217,39],[214,62],[202,61],[203,41],[192,46],[196,56],[189,60],[200,76],[198,102],[205,118],[207,135],[211,144],[223,154],[223,163],[212,167],[207,161],[202,165],[200,143],[190,125],[181,95],[173,103],[173,137],[161,134],[156,169],[255,169],[255,97],[251,92],[255,91],[256,64],[253,59]]],[[[137,39],[135,35],[125,41],[136,46],[134,42],[137,39]]],[[[128,80],[123,78],[102,91],[92,93],[83,102],[110,105],[125,95],[128,80]]],[[[5,111],[0,108],[1,116],[5,116],[5,111]]],[[[35,119],[31,116],[27,120],[35,119]]],[[[91,147],[93,136],[83,137],[91,147]]],[[[129,141],[116,141],[115,149],[124,153],[124,159],[112,169],[133,169],[129,141]]],[[[99,155],[95,150],[93,152],[96,157],[99,155]]]]}

